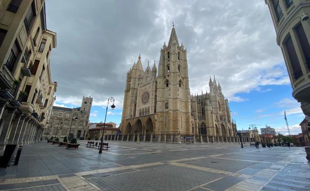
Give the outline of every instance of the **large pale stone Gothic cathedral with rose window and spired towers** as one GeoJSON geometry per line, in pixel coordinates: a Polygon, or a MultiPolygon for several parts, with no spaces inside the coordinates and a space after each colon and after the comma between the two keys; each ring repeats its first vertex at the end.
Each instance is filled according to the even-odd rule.
{"type": "Polygon", "coordinates": [[[123,140],[164,142],[235,142],[236,124],[216,79],[210,92],[191,95],[187,52],[172,27],[160,49],[158,68],[141,56],[127,73],[120,133],[123,140]],[[158,69],[158,71],[157,71],[158,69]],[[158,73],[157,73],[158,72],[158,73]]]}

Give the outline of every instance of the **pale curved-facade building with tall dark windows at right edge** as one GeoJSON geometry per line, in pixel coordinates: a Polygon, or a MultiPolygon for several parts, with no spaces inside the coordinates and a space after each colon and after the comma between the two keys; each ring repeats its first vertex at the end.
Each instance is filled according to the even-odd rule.
{"type": "Polygon", "coordinates": [[[265,0],[284,56],[293,97],[310,116],[310,0],[265,0]]]}

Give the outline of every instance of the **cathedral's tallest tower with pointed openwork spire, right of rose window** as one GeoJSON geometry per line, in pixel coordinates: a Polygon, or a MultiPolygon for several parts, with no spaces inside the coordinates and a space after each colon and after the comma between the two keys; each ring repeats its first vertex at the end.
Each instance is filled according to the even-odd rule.
{"type": "Polygon", "coordinates": [[[157,77],[156,129],[162,134],[192,134],[186,49],[174,26],[168,46],[160,50],[157,77]]]}

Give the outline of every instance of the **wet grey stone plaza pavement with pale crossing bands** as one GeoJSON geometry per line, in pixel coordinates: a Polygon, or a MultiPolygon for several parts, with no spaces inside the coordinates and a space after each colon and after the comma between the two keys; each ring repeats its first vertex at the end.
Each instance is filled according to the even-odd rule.
{"type": "Polygon", "coordinates": [[[302,147],[109,142],[98,154],[38,142],[0,169],[0,191],[310,191],[302,147]]]}

